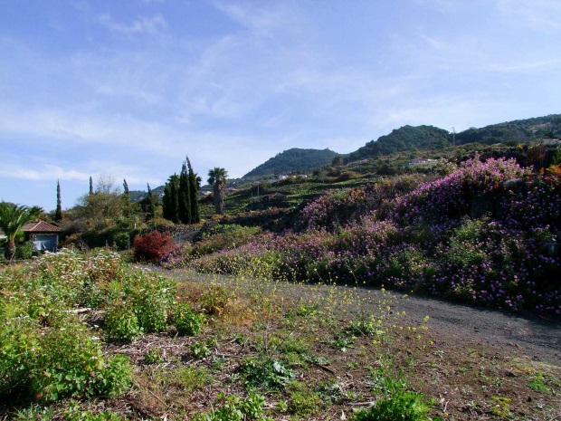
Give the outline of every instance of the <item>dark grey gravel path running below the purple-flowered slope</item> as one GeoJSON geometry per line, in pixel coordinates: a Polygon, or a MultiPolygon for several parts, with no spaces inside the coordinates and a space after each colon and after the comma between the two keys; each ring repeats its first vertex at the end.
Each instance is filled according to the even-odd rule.
{"type": "MultiPolygon", "coordinates": [[[[155,270],[155,269],[153,269],[155,270]]],[[[156,269],[157,270],[157,269],[156,269]]],[[[214,282],[232,285],[232,277],[204,275],[193,271],[171,270],[162,274],[178,281],[214,282]]],[[[288,295],[308,295],[307,285],[282,283],[281,290],[288,295]]],[[[329,288],[314,287],[313,294],[328,293],[329,288]]],[[[379,290],[358,288],[364,310],[376,307],[379,290]]],[[[435,300],[427,297],[395,293],[392,304],[395,311],[405,311],[405,318],[419,324],[429,316],[428,327],[433,340],[456,349],[484,347],[502,355],[526,355],[531,359],[561,366],[561,321],[550,321],[533,315],[519,315],[490,311],[477,307],[435,300]]]]}

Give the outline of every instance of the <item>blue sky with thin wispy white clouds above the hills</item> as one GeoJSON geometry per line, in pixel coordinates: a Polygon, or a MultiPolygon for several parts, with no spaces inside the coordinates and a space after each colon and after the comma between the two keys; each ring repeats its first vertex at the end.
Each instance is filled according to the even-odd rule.
{"type": "Polygon", "coordinates": [[[561,112],[558,0],[0,0],[0,200],[561,112]]]}

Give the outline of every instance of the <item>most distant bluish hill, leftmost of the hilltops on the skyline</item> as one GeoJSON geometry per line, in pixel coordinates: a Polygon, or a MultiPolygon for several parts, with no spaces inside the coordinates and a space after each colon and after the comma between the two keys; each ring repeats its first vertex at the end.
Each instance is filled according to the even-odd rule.
{"type": "Polygon", "coordinates": [[[290,174],[293,172],[308,172],[315,167],[330,164],[338,153],[328,148],[320,149],[301,149],[291,148],[270,158],[259,167],[253,168],[243,178],[270,176],[272,174],[290,174]]]}

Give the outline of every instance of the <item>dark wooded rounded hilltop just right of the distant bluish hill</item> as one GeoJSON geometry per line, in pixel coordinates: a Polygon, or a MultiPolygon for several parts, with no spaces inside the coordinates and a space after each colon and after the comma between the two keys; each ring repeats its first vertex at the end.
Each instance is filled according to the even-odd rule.
{"type": "Polygon", "coordinates": [[[394,129],[376,141],[370,140],[364,147],[350,153],[345,160],[352,162],[412,149],[442,149],[449,147],[452,144],[451,140],[448,131],[444,129],[433,126],[404,126],[394,129]]]}

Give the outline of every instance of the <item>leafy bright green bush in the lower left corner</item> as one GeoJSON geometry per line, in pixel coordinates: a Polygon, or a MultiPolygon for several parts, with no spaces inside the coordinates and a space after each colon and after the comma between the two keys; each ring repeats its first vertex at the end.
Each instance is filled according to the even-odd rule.
{"type": "Polygon", "coordinates": [[[79,321],[69,317],[64,326],[39,334],[33,321],[24,317],[3,323],[0,398],[117,396],[128,388],[132,369],[126,357],[106,358],[99,338],[79,321]]]}

